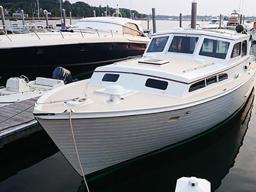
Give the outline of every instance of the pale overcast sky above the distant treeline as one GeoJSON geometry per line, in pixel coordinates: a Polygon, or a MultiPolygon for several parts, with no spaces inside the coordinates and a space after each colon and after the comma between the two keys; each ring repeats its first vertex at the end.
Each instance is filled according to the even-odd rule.
{"type": "MultiPolygon", "coordinates": [[[[71,3],[84,1],[92,6],[116,4],[121,8],[132,7],[140,13],[150,14],[151,8],[156,8],[157,15],[183,15],[191,14],[192,0],[69,0],[71,3]],[[131,4],[131,5],[130,5],[131,4]]],[[[240,0],[197,0],[198,15],[230,15],[232,10],[239,9],[240,0]]],[[[241,0],[241,10],[244,15],[256,15],[256,0],[241,0]]]]}

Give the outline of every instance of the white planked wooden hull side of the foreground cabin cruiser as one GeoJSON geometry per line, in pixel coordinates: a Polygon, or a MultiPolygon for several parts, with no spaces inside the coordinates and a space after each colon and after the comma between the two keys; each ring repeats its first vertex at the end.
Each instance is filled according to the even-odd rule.
{"type": "MultiPolygon", "coordinates": [[[[247,101],[255,75],[217,99],[175,111],[99,119],[72,119],[84,173],[90,174],[203,133],[223,122],[247,101]]],[[[69,119],[43,119],[62,154],[81,175],[69,119]]]]}

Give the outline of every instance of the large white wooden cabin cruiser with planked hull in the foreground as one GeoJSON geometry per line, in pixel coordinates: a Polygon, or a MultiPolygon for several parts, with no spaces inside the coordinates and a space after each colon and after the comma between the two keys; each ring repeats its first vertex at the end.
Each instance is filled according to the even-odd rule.
{"type": "Polygon", "coordinates": [[[80,175],[110,169],[236,113],[256,79],[249,38],[227,29],[156,33],[142,58],[46,93],[35,118],[80,175]]]}

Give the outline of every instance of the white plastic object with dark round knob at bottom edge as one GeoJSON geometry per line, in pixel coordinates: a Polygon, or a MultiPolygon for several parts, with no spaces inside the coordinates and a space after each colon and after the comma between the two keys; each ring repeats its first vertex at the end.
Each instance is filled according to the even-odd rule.
{"type": "Polygon", "coordinates": [[[211,183],[196,177],[181,177],[177,180],[175,192],[211,192],[211,183]]]}

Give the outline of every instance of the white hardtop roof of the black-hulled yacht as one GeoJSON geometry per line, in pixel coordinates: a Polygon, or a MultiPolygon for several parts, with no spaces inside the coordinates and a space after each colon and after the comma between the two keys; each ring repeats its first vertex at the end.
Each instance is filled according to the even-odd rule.
{"type": "Polygon", "coordinates": [[[87,17],[80,19],[79,21],[94,21],[103,23],[114,23],[118,25],[124,25],[125,23],[134,23],[140,25],[141,22],[137,20],[132,20],[124,17],[87,17]]]}

